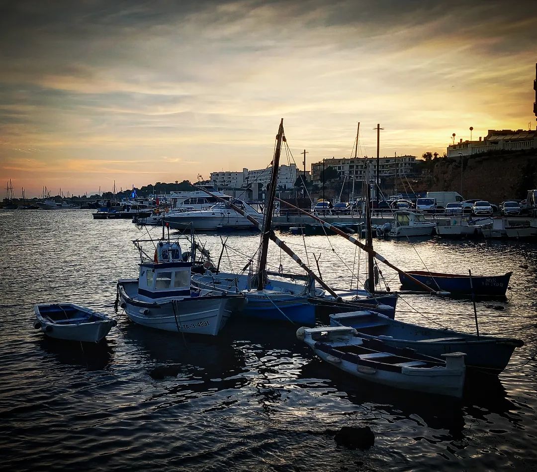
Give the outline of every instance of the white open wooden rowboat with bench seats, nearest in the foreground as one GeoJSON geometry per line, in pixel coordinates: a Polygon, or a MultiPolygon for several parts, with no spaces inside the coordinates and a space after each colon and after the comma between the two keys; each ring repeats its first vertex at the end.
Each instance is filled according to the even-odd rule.
{"type": "Polygon", "coordinates": [[[445,361],[359,336],[348,327],[299,328],[296,337],[322,360],[361,380],[405,390],[462,397],[465,354],[442,354],[445,361]]]}

